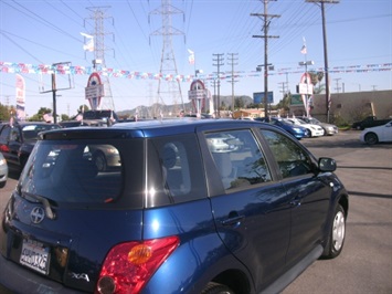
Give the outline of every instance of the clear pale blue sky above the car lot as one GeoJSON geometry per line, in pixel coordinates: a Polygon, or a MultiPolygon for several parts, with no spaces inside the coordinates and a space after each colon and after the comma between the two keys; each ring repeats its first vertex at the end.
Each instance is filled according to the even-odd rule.
{"type": "MultiPolygon", "coordinates": [[[[331,93],[392,90],[392,1],[336,2],[325,4],[331,93]]],[[[95,54],[83,49],[88,39],[81,33],[94,35],[97,12],[104,17],[99,25],[105,33],[105,69],[118,73],[105,77],[113,97],[105,103],[113,103],[117,112],[157,102],[189,102],[195,71],[202,72],[199,78],[206,88],[218,94],[211,78],[218,63],[220,95],[232,95],[233,88],[234,95],[264,93],[264,73],[256,71],[264,64],[264,38],[256,38],[264,34],[264,18],[252,15],[265,13],[264,1],[1,0],[0,103],[15,105],[17,70],[19,64],[30,64],[30,73],[20,73],[25,81],[27,114],[34,115],[40,107],[53,109],[51,75],[36,69],[70,62],[91,70],[95,54]],[[170,17],[160,13],[163,3],[170,4],[170,17]],[[171,28],[170,34],[162,30],[163,23],[171,28]],[[163,40],[171,42],[163,46],[163,40]],[[194,64],[189,62],[189,51],[194,52],[194,64]],[[169,63],[167,56],[171,56],[169,63]],[[163,93],[177,85],[157,78],[161,69],[177,69],[181,76],[177,93],[182,96],[159,97],[159,90],[163,93]],[[232,71],[234,83],[227,77],[232,71]]],[[[308,71],[324,71],[321,8],[306,0],[277,0],[268,2],[267,14],[272,36],[267,56],[274,66],[267,84],[276,104],[285,92],[295,93],[305,72],[299,62],[312,61],[308,71]],[[300,52],[304,44],[307,54],[300,52]]],[[[80,105],[88,104],[88,70],[56,74],[57,114],[74,115],[80,105]]]]}

